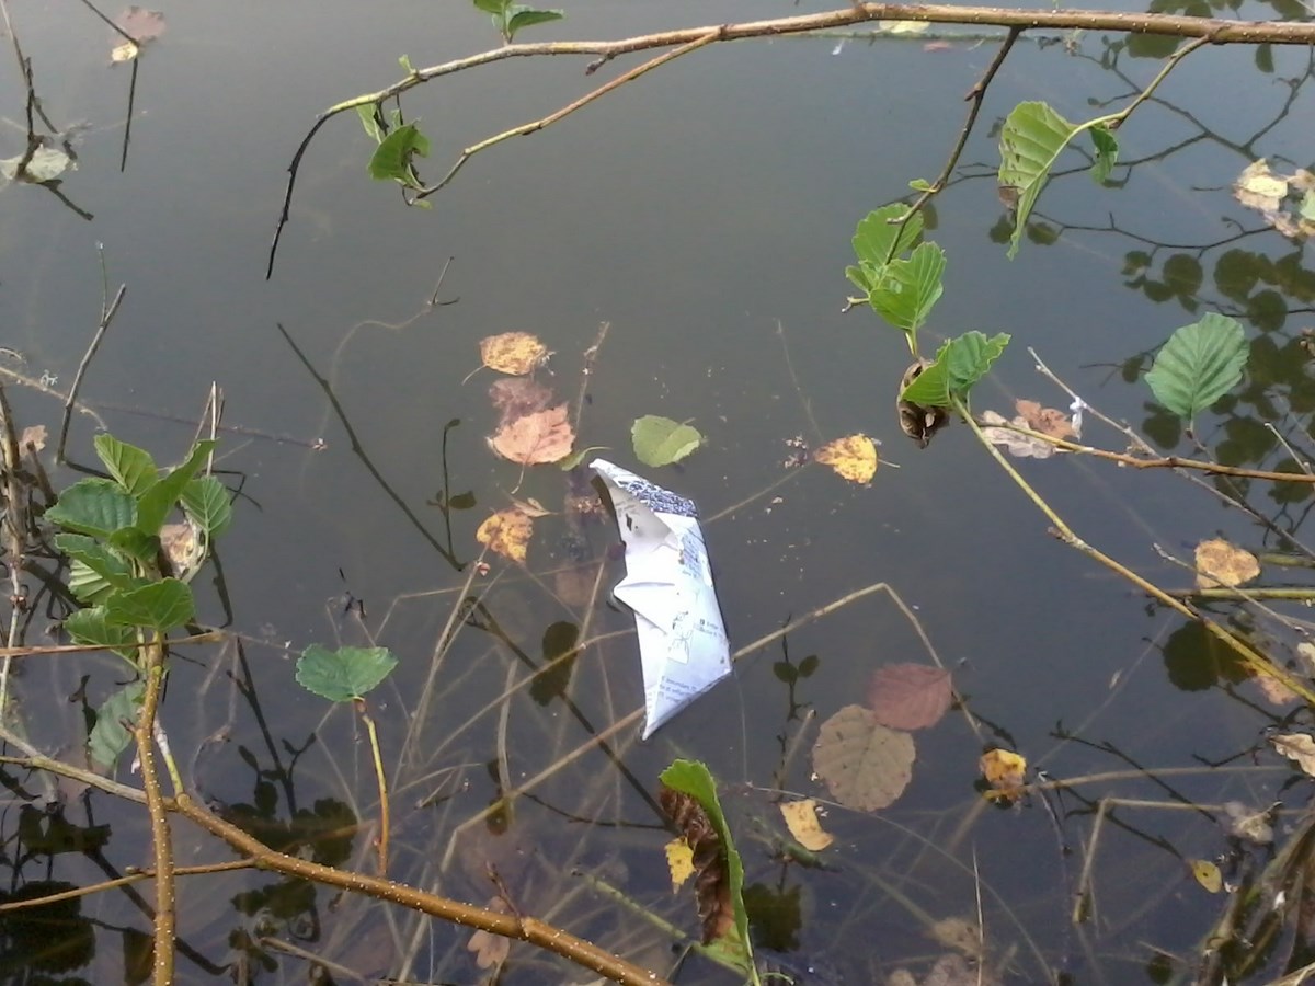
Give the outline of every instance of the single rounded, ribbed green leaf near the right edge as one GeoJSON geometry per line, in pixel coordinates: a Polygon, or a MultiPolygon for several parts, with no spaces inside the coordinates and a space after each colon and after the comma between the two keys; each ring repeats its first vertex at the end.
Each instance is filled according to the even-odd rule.
{"type": "Polygon", "coordinates": [[[1160,404],[1190,423],[1237,385],[1244,365],[1241,323],[1211,312],[1169,337],[1145,380],[1160,404]]]}

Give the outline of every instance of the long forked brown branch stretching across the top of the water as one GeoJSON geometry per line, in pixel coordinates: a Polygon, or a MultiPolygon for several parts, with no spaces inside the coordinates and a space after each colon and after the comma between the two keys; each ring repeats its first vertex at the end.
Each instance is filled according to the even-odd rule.
{"type": "MultiPolygon", "coordinates": [[[[1007,54],[1013,39],[1027,30],[1106,30],[1126,32],[1130,34],[1155,34],[1162,37],[1180,37],[1199,39],[1201,43],[1211,45],[1310,45],[1315,43],[1315,24],[1294,21],[1240,21],[1216,17],[1187,17],[1161,13],[1119,13],[1114,11],[1024,11],[1006,7],[955,7],[948,4],[906,5],[906,4],[860,4],[855,3],[838,11],[823,13],[801,14],[796,17],[777,17],[764,21],[746,21],[742,24],[706,25],[701,28],[684,28],[680,30],[659,32],[655,34],[640,34],[617,41],[555,41],[533,45],[504,45],[489,51],[481,51],[466,58],[416,68],[404,79],[377,92],[364,93],[354,99],[330,106],[310,125],[306,135],[301,139],[292,162],[288,164],[288,184],[284,191],[283,208],[274,233],[274,242],[270,245],[270,260],[266,267],[266,277],[274,273],[274,260],[279,251],[279,239],[283,229],[288,223],[292,206],[292,192],[296,185],[297,172],[310,142],[320,133],[320,129],[341,113],[384,103],[401,96],[404,92],[422,85],[433,79],[455,72],[463,72],[479,66],[492,64],[508,58],[535,58],[539,55],[596,55],[596,60],[585,68],[592,74],[601,66],[619,58],[621,55],[638,51],[652,51],[656,49],[676,49],[668,57],[654,59],[640,66],[639,70],[622,76],[615,83],[596,89],[558,113],[543,117],[534,124],[517,128],[498,134],[485,145],[501,142],[518,134],[534,133],[555,120],[562,118],[580,105],[589,103],[606,92],[613,91],[618,84],[629,82],[631,78],[647,72],[659,64],[671,60],[685,50],[693,50],[707,43],[723,41],[743,41],[747,38],[773,38],[788,34],[805,34],[818,30],[834,30],[852,24],[863,24],[877,20],[926,21],[931,24],[960,24],[960,25],[989,25],[1006,28],[1010,32],[1006,39],[1005,51],[1007,54]]],[[[1185,53],[1184,53],[1185,54],[1185,53]]],[[[995,66],[998,68],[998,66],[995,66]]],[[[989,79],[986,80],[989,82],[989,79]]],[[[985,87],[984,87],[985,88],[985,87]]],[[[476,145],[476,150],[481,145],[476,145]]],[[[456,166],[447,177],[439,183],[439,188],[451,180],[456,170],[469,158],[471,150],[463,153],[456,166]]],[[[437,191],[437,189],[435,189],[437,191]]]]}

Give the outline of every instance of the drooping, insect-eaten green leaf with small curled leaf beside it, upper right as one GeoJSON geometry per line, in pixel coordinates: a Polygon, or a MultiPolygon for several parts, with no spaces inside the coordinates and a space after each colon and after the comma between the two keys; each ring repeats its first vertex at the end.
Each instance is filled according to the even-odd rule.
{"type": "Polygon", "coordinates": [[[1045,103],[1019,103],[999,133],[999,187],[1018,196],[1014,205],[1014,233],[1009,238],[1009,259],[1027,229],[1027,217],[1036,205],[1051,168],[1060,153],[1082,131],[1091,134],[1091,177],[1103,184],[1119,156],[1119,142],[1110,129],[1114,117],[1097,117],[1070,124],[1045,103]]]}

